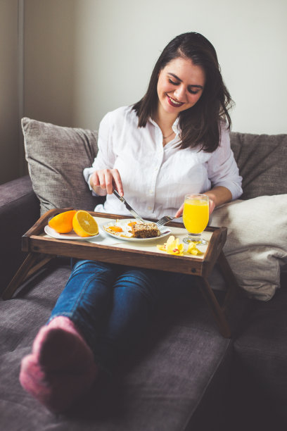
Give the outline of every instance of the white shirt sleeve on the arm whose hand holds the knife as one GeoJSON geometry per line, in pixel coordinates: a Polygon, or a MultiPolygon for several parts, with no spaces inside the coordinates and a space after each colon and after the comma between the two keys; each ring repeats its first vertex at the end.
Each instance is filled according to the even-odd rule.
{"type": "Polygon", "coordinates": [[[96,193],[91,189],[89,179],[91,174],[98,169],[113,169],[115,163],[115,154],[113,151],[113,122],[111,119],[112,113],[107,113],[98,127],[98,154],[94,158],[91,168],[84,168],[84,179],[89,185],[92,194],[96,193]]]}

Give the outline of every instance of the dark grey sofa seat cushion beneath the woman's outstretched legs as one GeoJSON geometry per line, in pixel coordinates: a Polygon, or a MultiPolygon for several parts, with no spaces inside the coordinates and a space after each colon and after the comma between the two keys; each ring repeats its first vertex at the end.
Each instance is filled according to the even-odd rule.
{"type": "Polygon", "coordinates": [[[162,310],[120,373],[110,383],[99,382],[67,415],[54,416],[23,391],[21,358],[30,353],[69,274],[68,267],[46,268],[15,298],[0,301],[3,429],[173,431],[218,424],[226,414],[232,342],[219,334],[197,289],[182,306],[173,304],[172,313],[162,310]]]}

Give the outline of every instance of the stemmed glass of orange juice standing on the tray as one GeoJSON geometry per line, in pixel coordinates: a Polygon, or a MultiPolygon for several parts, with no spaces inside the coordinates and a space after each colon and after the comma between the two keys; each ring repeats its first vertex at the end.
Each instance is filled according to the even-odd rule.
{"type": "Polygon", "coordinates": [[[207,194],[186,194],[184,196],[184,226],[189,236],[184,238],[186,244],[196,241],[198,244],[207,244],[201,237],[203,230],[208,225],[209,203],[207,194]]]}

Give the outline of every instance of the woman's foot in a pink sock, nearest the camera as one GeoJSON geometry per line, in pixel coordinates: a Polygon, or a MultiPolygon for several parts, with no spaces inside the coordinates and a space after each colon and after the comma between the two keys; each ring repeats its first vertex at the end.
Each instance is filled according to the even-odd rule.
{"type": "Polygon", "coordinates": [[[94,355],[72,320],[58,316],[42,327],[21,363],[20,383],[51,411],[66,411],[98,375],[94,355]]]}

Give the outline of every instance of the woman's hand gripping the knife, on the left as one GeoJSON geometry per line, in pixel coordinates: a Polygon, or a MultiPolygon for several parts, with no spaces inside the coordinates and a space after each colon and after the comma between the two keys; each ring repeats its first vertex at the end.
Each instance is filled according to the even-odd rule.
{"type": "Polygon", "coordinates": [[[96,194],[105,196],[112,194],[113,188],[117,190],[120,196],[124,195],[122,180],[117,169],[99,169],[95,170],[90,177],[90,185],[96,194]]]}

